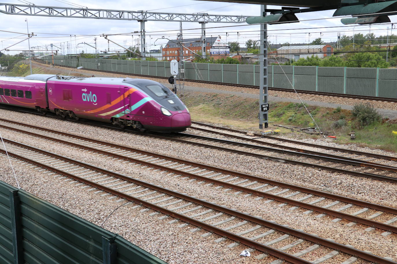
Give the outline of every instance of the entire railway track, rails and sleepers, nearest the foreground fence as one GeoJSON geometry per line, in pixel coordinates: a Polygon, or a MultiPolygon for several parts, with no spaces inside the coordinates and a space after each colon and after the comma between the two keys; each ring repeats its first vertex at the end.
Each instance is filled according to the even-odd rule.
{"type": "MultiPolygon", "coordinates": [[[[164,214],[159,217],[160,219],[173,217],[174,219],[169,221],[170,224],[184,222],[180,225],[181,227],[193,224],[197,226],[197,229],[192,230],[193,232],[201,229],[208,231],[208,233],[202,235],[203,237],[210,237],[212,234],[221,236],[215,242],[224,241],[224,237],[227,237],[235,241],[229,244],[229,247],[235,247],[241,243],[251,249],[264,252],[258,258],[266,257],[267,254],[270,254],[278,258],[278,260],[272,261],[272,264],[282,263],[283,260],[294,264],[320,263],[324,260],[332,259],[339,252],[349,255],[345,257],[343,264],[355,262],[357,260],[356,257],[376,263],[397,263],[388,258],[382,258],[366,251],[336,243],[330,239],[307,234],[301,230],[247,215],[215,203],[46,152],[32,146],[8,139],[4,139],[4,144],[10,156],[21,160],[19,163],[31,165],[32,169],[40,169],[41,167],[43,168],[41,171],[52,171],[55,174],[54,177],[65,180],[69,184],[77,184],[78,186],[87,184],[82,188],[88,189],[91,186],[93,188],[89,189],[89,191],[96,190],[96,194],[101,194],[104,197],[112,195],[108,198],[119,198],[118,201],[128,200],[136,203],[137,205],[132,207],[133,209],[141,209],[142,206],[146,207],[140,212],[150,211],[152,213],[148,215],[151,217],[160,213],[164,214]],[[287,245],[283,243],[284,246],[277,246],[281,241],[287,241],[287,245]],[[291,252],[290,250],[293,247],[301,243],[306,244],[304,250],[294,254],[288,253],[291,252]],[[327,254],[312,261],[304,259],[305,254],[320,248],[326,249],[327,254]]],[[[3,157],[6,157],[4,146],[0,147],[0,152],[4,154],[3,157]]],[[[132,156],[139,157],[141,154],[133,154],[132,156]]],[[[139,159],[142,160],[143,157],[139,159]]]]}

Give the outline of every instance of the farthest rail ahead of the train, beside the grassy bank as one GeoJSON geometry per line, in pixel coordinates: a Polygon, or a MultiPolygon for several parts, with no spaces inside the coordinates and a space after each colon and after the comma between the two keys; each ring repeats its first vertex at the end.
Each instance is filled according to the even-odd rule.
{"type": "MultiPolygon", "coordinates": [[[[206,124],[206,123],[200,123],[200,122],[194,122],[194,121],[192,121],[192,123],[196,124],[196,125],[202,125],[202,126],[211,127],[211,128],[214,128],[214,129],[220,129],[220,130],[225,130],[225,131],[230,131],[230,132],[235,132],[235,133],[242,133],[242,134],[246,134],[247,133],[247,132],[236,130],[236,129],[226,128],[226,127],[217,127],[215,125],[209,125],[209,124],[206,124]]],[[[196,127],[190,127],[190,128],[197,129],[196,127]]],[[[217,132],[214,131],[213,133],[217,133],[217,132]]],[[[229,135],[229,134],[227,134],[227,135],[229,135]]],[[[231,136],[233,137],[234,135],[231,135],[231,136]]],[[[312,144],[312,143],[307,143],[307,142],[295,141],[295,140],[292,140],[292,139],[283,139],[283,138],[279,138],[279,137],[261,135],[261,134],[257,134],[257,133],[254,133],[254,136],[255,137],[265,138],[265,139],[274,139],[274,140],[278,140],[278,141],[283,141],[283,142],[288,142],[288,143],[293,143],[293,144],[299,144],[299,145],[304,145],[304,146],[310,146],[310,147],[314,147],[314,148],[324,148],[326,150],[335,150],[335,151],[339,151],[339,152],[348,152],[348,153],[362,155],[362,156],[370,156],[370,157],[373,157],[373,158],[397,161],[397,157],[386,156],[386,155],[382,155],[382,154],[374,154],[374,153],[362,152],[362,151],[358,151],[358,150],[350,150],[350,149],[347,149],[347,148],[337,148],[337,147],[332,147],[332,146],[317,145],[317,144],[312,144]]],[[[263,142],[263,141],[259,141],[259,142],[263,142]]]]}

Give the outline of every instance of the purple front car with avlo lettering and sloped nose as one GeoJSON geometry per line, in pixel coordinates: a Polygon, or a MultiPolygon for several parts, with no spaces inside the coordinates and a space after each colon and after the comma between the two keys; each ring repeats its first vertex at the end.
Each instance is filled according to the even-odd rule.
{"type": "Polygon", "coordinates": [[[159,132],[184,131],[189,111],[164,85],[146,79],[55,76],[47,81],[48,107],[60,116],[159,132]]]}

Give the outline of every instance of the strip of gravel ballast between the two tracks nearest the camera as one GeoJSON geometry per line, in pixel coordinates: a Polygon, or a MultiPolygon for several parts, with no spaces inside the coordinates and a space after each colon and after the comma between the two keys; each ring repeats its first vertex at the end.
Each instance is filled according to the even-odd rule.
{"type": "MultiPolygon", "coordinates": [[[[102,130],[104,130],[104,129],[102,129],[102,130]]],[[[117,133],[119,133],[119,132],[117,132],[117,133]]],[[[4,136],[5,132],[3,132],[2,134],[4,136]]],[[[10,137],[12,137],[12,133],[10,133],[8,135],[10,137]]],[[[19,141],[21,141],[20,135],[21,134],[19,134],[19,133],[14,133],[14,136],[15,136],[14,139],[15,140],[19,139],[19,141]]],[[[32,139],[29,139],[29,138],[26,138],[25,140],[27,142],[32,142],[32,139]]],[[[103,164],[106,164],[106,161],[104,161],[101,158],[96,158],[95,156],[94,157],[87,156],[85,153],[82,153],[81,151],[79,151],[79,152],[71,151],[70,148],[68,148],[68,147],[60,148],[58,145],[52,145],[52,147],[49,147],[48,142],[44,142],[44,141],[42,141],[41,143],[39,141],[34,141],[34,144],[35,145],[39,144],[38,147],[45,148],[46,150],[54,151],[54,152],[60,152],[60,151],[62,151],[62,149],[64,149],[63,150],[64,155],[67,154],[68,156],[71,156],[72,158],[76,158],[78,160],[82,160],[82,161],[85,161],[88,163],[94,163],[95,165],[102,165],[102,167],[103,167],[103,164]]],[[[60,154],[62,154],[62,153],[60,153],[60,154]]],[[[114,171],[118,171],[118,172],[121,172],[124,174],[125,173],[133,173],[134,175],[139,175],[139,177],[141,177],[142,179],[150,180],[151,182],[157,181],[158,184],[161,184],[162,182],[163,183],[167,182],[167,183],[170,183],[169,185],[167,185],[168,188],[172,188],[173,190],[176,189],[176,190],[179,190],[180,192],[188,192],[190,194],[191,192],[193,192],[193,189],[195,189],[195,195],[198,198],[200,198],[200,197],[206,198],[206,197],[208,197],[208,193],[211,192],[210,188],[203,188],[202,186],[195,186],[195,184],[187,185],[186,181],[183,181],[178,178],[173,179],[172,175],[170,175],[170,177],[167,177],[164,174],[156,175],[156,173],[153,173],[153,172],[150,172],[148,174],[145,170],[142,170],[142,169],[139,169],[136,167],[135,168],[134,167],[125,168],[125,166],[120,166],[118,163],[106,164],[106,168],[112,169],[114,171]],[[121,169],[121,167],[124,167],[124,169],[121,169]]],[[[164,185],[164,184],[162,184],[162,185],[164,185]]],[[[345,233],[343,230],[345,229],[344,226],[347,222],[345,222],[345,223],[340,222],[341,226],[339,226],[339,228],[341,228],[342,231],[339,230],[339,228],[337,228],[336,229],[337,231],[335,231],[335,225],[330,225],[329,228],[324,228],[324,222],[327,222],[327,221],[330,222],[330,219],[322,218],[322,219],[314,219],[314,221],[309,219],[310,221],[308,221],[308,219],[303,216],[297,218],[296,212],[294,212],[294,213],[291,212],[290,215],[288,215],[289,212],[285,211],[284,209],[280,209],[280,207],[278,207],[279,203],[274,203],[274,205],[272,204],[272,205],[270,205],[270,207],[263,208],[263,204],[261,204],[260,202],[257,201],[255,203],[254,201],[252,201],[253,197],[251,199],[242,200],[241,198],[239,198],[237,196],[233,196],[232,194],[233,194],[233,192],[231,192],[230,194],[227,193],[227,195],[220,194],[219,192],[217,192],[217,193],[214,193],[214,196],[212,196],[211,200],[214,199],[213,201],[227,205],[228,207],[233,206],[233,208],[237,208],[239,211],[248,211],[249,213],[251,213],[253,215],[258,215],[259,211],[257,211],[257,208],[262,207],[263,213],[259,213],[259,215],[262,215],[265,219],[276,220],[276,222],[279,222],[282,224],[288,224],[288,223],[293,222],[294,225],[291,227],[301,228],[301,229],[304,229],[305,231],[307,230],[306,232],[311,232],[311,233],[314,233],[314,232],[319,233],[316,230],[326,230],[324,232],[321,232],[321,234],[319,234],[319,235],[322,237],[326,237],[326,238],[333,238],[335,240],[339,239],[339,241],[341,243],[342,243],[342,241],[345,241],[345,237],[349,237],[349,242],[350,242],[350,240],[353,240],[353,242],[350,242],[350,243],[353,243],[353,245],[357,248],[361,249],[362,247],[364,247],[364,249],[370,249],[377,255],[382,255],[382,253],[386,252],[381,249],[377,249],[379,247],[379,244],[382,244],[384,241],[383,240],[384,238],[379,235],[382,232],[380,232],[379,234],[378,234],[378,232],[371,233],[369,236],[368,236],[368,234],[363,235],[362,233],[363,233],[364,228],[357,226],[357,227],[353,228],[354,232],[352,231],[351,234],[349,232],[345,233]],[[249,206],[248,207],[244,206],[245,203],[249,204],[249,206]],[[273,218],[271,218],[271,217],[273,217],[273,218]],[[297,221],[297,219],[300,219],[300,220],[297,221]],[[343,232],[343,234],[344,234],[343,237],[340,237],[339,232],[343,232]],[[364,240],[358,239],[358,241],[367,241],[368,238],[365,239],[365,237],[370,237],[370,239],[372,239],[372,241],[376,241],[376,243],[374,243],[374,244],[357,243],[357,241],[355,241],[357,239],[357,236],[359,236],[359,237],[363,236],[362,239],[364,239],[364,240]],[[374,237],[372,237],[372,236],[374,236],[374,237]]],[[[389,236],[388,239],[391,239],[391,237],[392,236],[389,236]]],[[[390,256],[390,255],[384,255],[384,256],[390,256]]],[[[395,257],[395,256],[391,255],[391,257],[395,257]]]]}

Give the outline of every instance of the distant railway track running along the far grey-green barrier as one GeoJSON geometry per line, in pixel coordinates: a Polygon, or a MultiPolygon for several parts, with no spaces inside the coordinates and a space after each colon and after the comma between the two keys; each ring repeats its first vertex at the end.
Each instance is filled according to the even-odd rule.
{"type": "MultiPolygon", "coordinates": [[[[36,61],[38,63],[46,64],[43,61],[34,59],[33,61],[36,61]]],[[[64,65],[59,65],[59,64],[54,64],[55,66],[61,66],[61,67],[66,67],[66,68],[75,68],[73,66],[64,66],[64,65]]],[[[86,69],[83,68],[84,70],[92,70],[94,72],[108,72],[108,73],[116,73],[116,74],[123,74],[123,75],[132,75],[132,76],[141,76],[145,78],[158,78],[158,79],[168,79],[168,77],[162,77],[162,76],[151,76],[151,75],[144,75],[144,74],[131,74],[131,73],[125,73],[125,72],[113,72],[113,71],[108,71],[108,70],[95,70],[95,69],[86,69]]],[[[190,79],[185,79],[187,82],[197,82],[197,83],[203,83],[203,84],[216,84],[216,85],[224,85],[224,86],[234,86],[234,87],[243,87],[243,88],[251,88],[251,89],[259,89],[259,86],[256,85],[244,85],[244,84],[227,84],[223,82],[208,82],[208,81],[203,81],[203,80],[190,80],[190,79]]],[[[359,100],[369,100],[369,101],[382,101],[382,102],[391,102],[391,103],[397,103],[396,98],[388,98],[388,97],[373,97],[373,96],[366,96],[366,95],[349,95],[349,94],[341,94],[341,93],[327,93],[327,92],[320,92],[320,91],[305,91],[305,90],[294,90],[294,89],[287,89],[287,88],[276,88],[276,87],[268,87],[269,90],[273,91],[283,91],[283,92],[290,92],[290,93],[304,93],[304,94],[310,94],[310,95],[322,95],[322,96],[329,96],[329,97],[341,97],[341,98],[349,98],[349,99],[359,99],[359,100]]]]}

